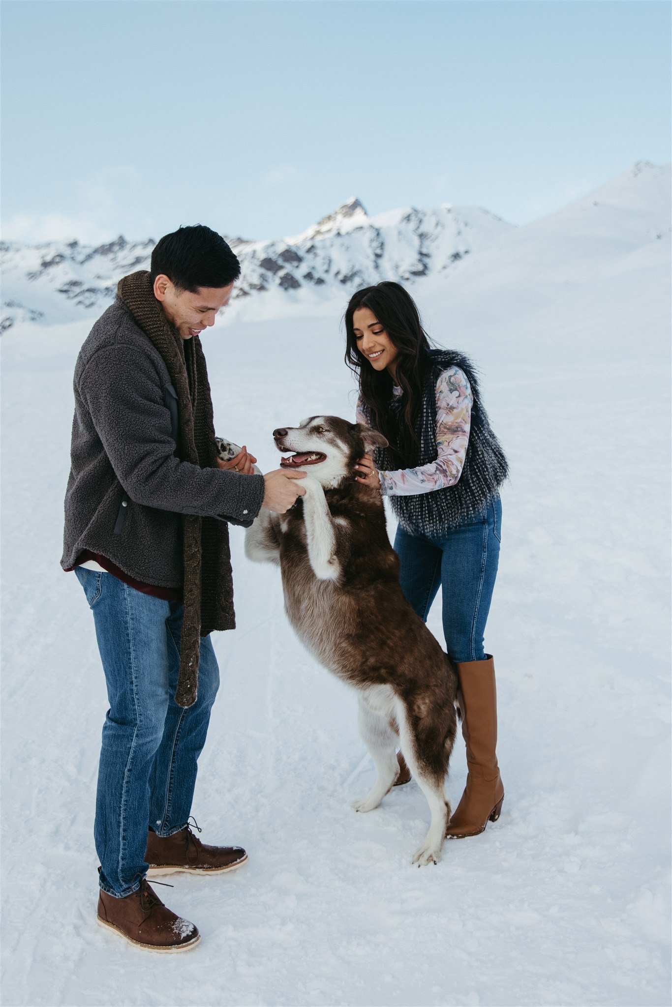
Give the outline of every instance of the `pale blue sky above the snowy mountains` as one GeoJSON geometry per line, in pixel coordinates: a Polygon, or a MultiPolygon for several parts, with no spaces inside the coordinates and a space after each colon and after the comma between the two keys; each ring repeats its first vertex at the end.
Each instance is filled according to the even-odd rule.
{"type": "Polygon", "coordinates": [[[351,195],[524,224],[670,160],[670,9],[5,0],[5,238],[279,238],[351,195]]]}

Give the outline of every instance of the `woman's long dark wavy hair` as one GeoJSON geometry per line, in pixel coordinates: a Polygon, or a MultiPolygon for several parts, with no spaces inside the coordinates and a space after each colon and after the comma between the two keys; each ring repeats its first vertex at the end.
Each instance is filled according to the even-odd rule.
{"type": "Polygon", "coordinates": [[[360,394],[371,410],[372,425],[387,437],[403,467],[413,465],[419,447],[415,425],[422,405],[430,348],[415,301],[399,283],[384,280],[353,294],[345,321],[346,364],[358,376],[360,394]],[[353,325],[358,308],[373,311],[399,353],[397,384],[403,390],[399,413],[390,410],[393,383],[387,370],[375,371],[358,348],[353,325]]]}

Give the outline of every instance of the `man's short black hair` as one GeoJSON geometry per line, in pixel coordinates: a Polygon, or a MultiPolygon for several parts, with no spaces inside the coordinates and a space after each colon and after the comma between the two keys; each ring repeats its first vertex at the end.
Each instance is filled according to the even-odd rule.
{"type": "Polygon", "coordinates": [[[222,235],[194,224],[164,235],[154,246],[152,283],[160,274],[179,290],[194,294],[198,287],[228,287],[241,275],[241,264],[222,235]]]}

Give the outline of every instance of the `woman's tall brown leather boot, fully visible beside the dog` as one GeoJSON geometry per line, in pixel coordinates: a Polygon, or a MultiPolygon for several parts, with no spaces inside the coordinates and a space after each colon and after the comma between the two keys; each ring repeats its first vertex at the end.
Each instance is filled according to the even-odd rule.
{"type": "Polygon", "coordinates": [[[504,785],[497,764],[497,689],[492,654],[485,661],[457,664],[466,744],[466,786],[448,825],[448,839],[478,836],[497,822],[504,785]]]}

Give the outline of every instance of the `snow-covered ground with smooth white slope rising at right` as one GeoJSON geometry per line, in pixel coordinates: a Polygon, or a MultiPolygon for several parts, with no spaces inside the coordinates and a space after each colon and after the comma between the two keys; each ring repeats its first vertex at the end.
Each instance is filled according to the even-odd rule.
{"type": "MultiPolygon", "coordinates": [[[[517,229],[413,291],[436,341],[481,367],[511,461],[486,638],[502,818],[418,870],[415,783],[351,810],[374,774],[355,698],[294,638],[277,571],[248,563],[233,529],[238,629],[215,637],[193,813],[206,842],[250,862],[158,889],[201,931],[188,955],[95,924],[107,703],[91,613],[58,567],[88,325],[5,337],[7,1007],[669,1003],[669,225],[634,191],[517,229]]],[[[274,427],[353,415],[344,307],[234,316],[206,338],[218,431],[265,469],[274,427]]],[[[438,605],[429,624],[440,638],[438,605]]],[[[452,803],[464,772],[459,743],[452,803]]]]}

